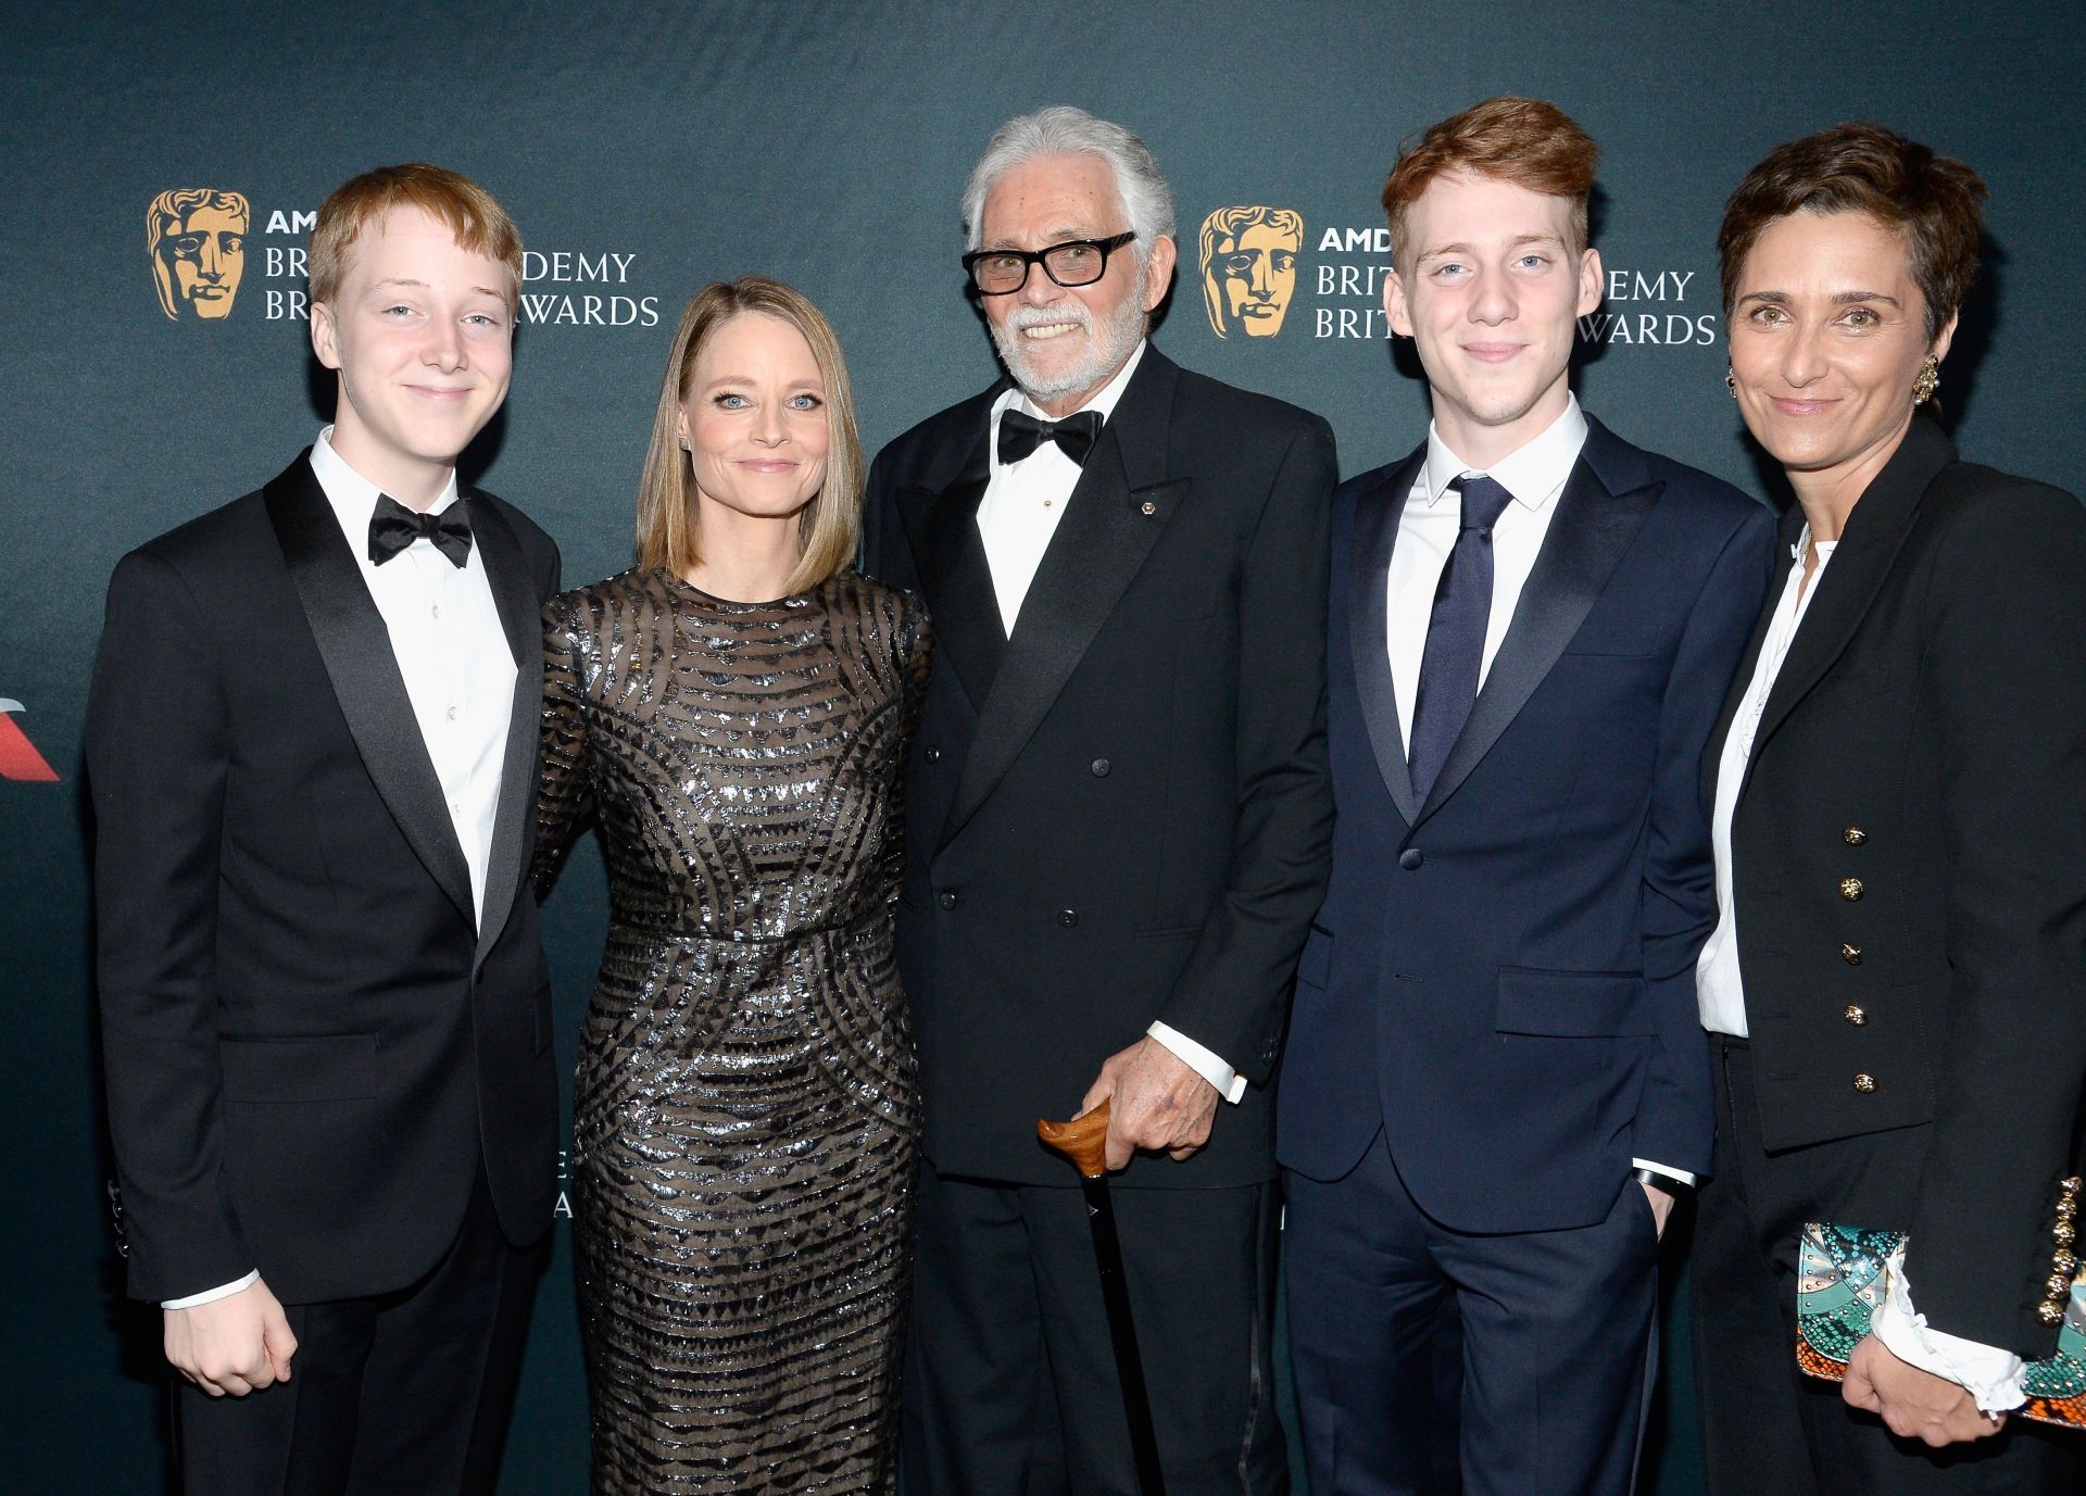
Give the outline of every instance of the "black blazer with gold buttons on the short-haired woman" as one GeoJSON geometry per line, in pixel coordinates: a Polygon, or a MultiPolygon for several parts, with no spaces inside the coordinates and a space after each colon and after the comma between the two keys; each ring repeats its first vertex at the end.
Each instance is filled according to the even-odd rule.
{"type": "Polygon", "coordinates": [[[1761,1135],[1919,1150],[1917,1196],[1850,1225],[1911,1231],[1938,1329],[2048,1354],[2086,1081],[2086,513],[1915,417],[1817,588],[1731,818],[1761,1135]]]}

